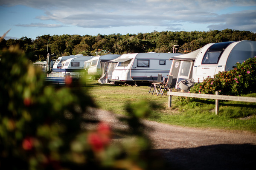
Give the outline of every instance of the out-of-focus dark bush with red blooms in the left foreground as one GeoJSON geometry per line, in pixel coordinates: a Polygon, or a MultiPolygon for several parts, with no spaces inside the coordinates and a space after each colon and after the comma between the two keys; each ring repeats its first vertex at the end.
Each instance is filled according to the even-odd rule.
{"type": "Polygon", "coordinates": [[[19,48],[0,52],[0,77],[0,169],[163,168],[139,120],[148,109],[128,107],[123,140],[112,142],[116,132],[87,111],[95,105],[86,88],[44,85],[19,48]]]}

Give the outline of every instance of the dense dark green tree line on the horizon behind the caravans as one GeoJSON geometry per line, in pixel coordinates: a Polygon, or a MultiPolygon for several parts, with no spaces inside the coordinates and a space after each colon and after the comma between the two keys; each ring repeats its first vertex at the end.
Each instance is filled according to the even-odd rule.
{"type": "Polygon", "coordinates": [[[256,33],[224,29],[222,31],[153,31],[138,34],[91,35],[42,35],[32,40],[21,37],[0,42],[0,50],[12,45],[19,45],[32,61],[45,61],[47,49],[53,58],[67,55],[102,55],[138,53],[138,52],[173,52],[178,45],[179,53],[189,53],[204,45],[214,42],[256,40],[256,33]],[[48,45],[49,44],[49,45],[48,45]],[[48,47],[47,47],[48,45],[48,47]]]}

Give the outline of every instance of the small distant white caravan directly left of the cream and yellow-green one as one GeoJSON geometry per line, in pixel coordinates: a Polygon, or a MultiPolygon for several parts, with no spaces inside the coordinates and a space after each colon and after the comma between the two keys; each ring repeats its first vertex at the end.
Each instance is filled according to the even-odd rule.
{"type": "Polygon", "coordinates": [[[75,58],[70,58],[67,59],[66,61],[62,62],[62,68],[67,69],[67,68],[75,68],[75,69],[81,69],[84,68],[84,62],[92,59],[91,56],[83,56],[83,57],[75,57],[75,58]]]}

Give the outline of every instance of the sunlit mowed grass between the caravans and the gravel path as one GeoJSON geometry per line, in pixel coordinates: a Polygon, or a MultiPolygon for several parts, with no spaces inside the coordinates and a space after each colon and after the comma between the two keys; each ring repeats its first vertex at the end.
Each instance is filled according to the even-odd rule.
{"type": "MultiPolygon", "coordinates": [[[[148,94],[148,86],[102,85],[97,81],[87,82],[90,96],[96,105],[116,114],[127,114],[126,105],[150,107],[146,118],[170,125],[227,130],[247,130],[256,133],[256,103],[220,101],[218,115],[215,114],[215,101],[194,99],[193,102],[180,101],[172,96],[172,108],[168,108],[168,96],[148,94]],[[141,101],[148,104],[140,105],[141,101]]],[[[256,97],[256,94],[248,95],[256,97]]]]}

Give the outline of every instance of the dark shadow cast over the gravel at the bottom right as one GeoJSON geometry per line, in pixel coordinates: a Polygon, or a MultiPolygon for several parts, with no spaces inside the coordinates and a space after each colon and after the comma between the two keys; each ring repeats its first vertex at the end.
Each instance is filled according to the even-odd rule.
{"type": "Polygon", "coordinates": [[[252,144],[217,144],[155,151],[163,154],[172,170],[252,170],[255,168],[256,146],[252,144]]]}

